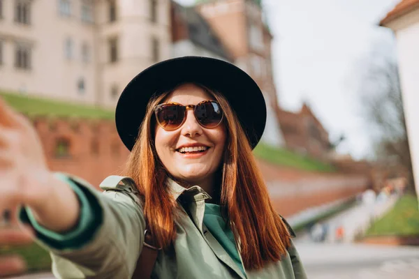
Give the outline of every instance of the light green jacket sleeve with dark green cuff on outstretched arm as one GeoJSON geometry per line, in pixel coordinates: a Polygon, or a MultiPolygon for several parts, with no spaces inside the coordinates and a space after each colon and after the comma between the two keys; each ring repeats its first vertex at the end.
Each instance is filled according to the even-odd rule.
{"type": "MultiPolygon", "coordinates": [[[[71,177],[68,182],[77,187],[74,190],[80,192],[79,197],[87,200],[90,215],[94,216],[92,222],[79,234],[74,231],[80,229],[80,224],[70,232],[51,234],[37,228],[34,220],[30,221],[36,228],[38,243],[51,252],[55,276],[130,278],[142,250],[145,229],[141,206],[133,198],[130,186],[108,188],[99,193],[78,178],[71,177]]],[[[86,202],[80,203],[83,223],[86,202]]]]}

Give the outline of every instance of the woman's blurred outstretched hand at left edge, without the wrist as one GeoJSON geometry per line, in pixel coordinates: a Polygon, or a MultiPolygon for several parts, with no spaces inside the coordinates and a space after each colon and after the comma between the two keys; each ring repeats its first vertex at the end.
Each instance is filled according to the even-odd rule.
{"type": "Polygon", "coordinates": [[[42,206],[50,176],[36,130],[0,98],[0,213],[42,206]]]}

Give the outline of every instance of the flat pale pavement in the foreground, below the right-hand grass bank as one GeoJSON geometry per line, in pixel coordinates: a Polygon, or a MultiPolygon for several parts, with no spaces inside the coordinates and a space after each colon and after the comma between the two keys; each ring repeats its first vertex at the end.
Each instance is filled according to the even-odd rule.
{"type": "Polygon", "coordinates": [[[417,279],[419,248],[296,243],[310,279],[417,279]]]}

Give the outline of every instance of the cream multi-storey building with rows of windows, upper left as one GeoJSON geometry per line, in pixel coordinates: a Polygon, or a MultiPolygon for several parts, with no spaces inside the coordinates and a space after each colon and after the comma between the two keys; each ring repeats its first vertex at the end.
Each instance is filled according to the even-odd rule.
{"type": "Polygon", "coordinates": [[[169,0],[0,0],[0,91],[115,107],[170,57],[169,0]]]}

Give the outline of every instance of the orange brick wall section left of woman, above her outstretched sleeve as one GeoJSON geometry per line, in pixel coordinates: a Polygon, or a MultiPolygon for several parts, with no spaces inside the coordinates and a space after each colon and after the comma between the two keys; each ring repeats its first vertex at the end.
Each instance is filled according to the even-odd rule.
{"type": "Polygon", "coordinates": [[[97,188],[106,176],[121,174],[129,151],[114,121],[47,117],[31,121],[52,171],[80,176],[97,188]]]}

